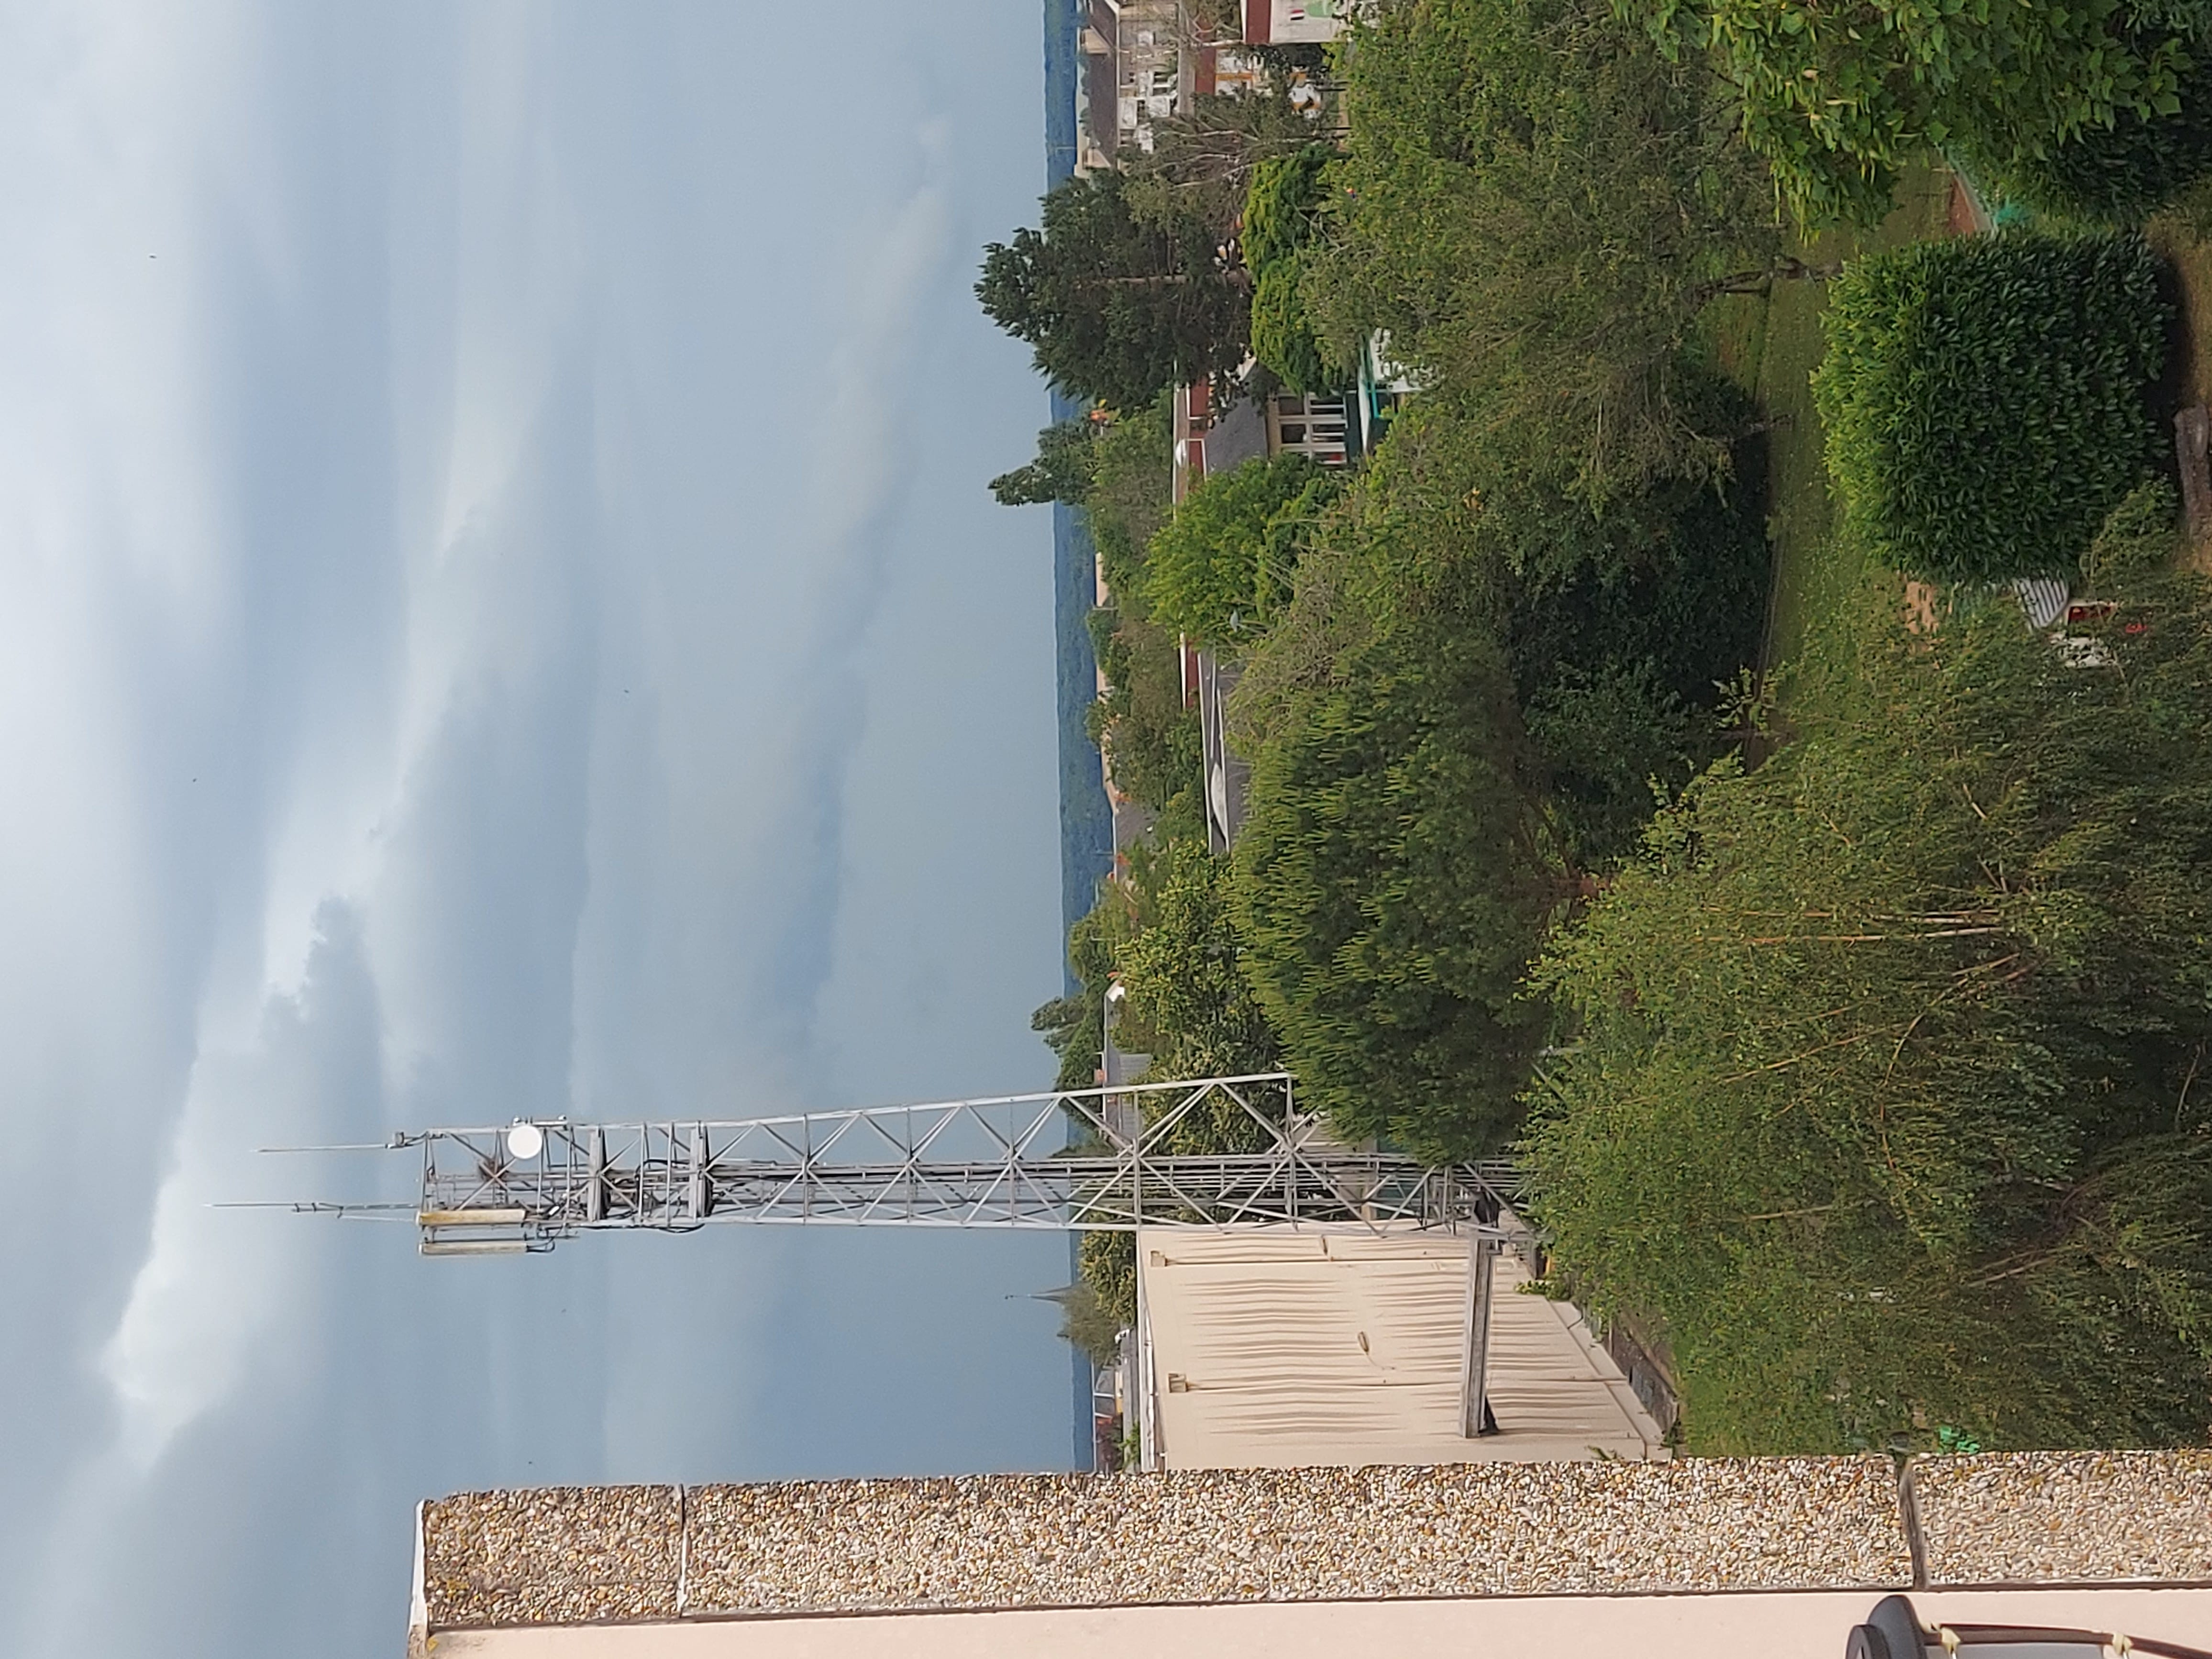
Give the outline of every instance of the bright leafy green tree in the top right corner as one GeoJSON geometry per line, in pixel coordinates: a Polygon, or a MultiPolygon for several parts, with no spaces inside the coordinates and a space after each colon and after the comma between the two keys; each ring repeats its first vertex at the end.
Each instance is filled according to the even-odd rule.
{"type": "Polygon", "coordinates": [[[1951,0],[1621,0],[1677,58],[1708,55],[1805,223],[1874,223],[1929,148],[2035,168],[2121,119],[2181,111],[2212,7],[1951,0]]]}

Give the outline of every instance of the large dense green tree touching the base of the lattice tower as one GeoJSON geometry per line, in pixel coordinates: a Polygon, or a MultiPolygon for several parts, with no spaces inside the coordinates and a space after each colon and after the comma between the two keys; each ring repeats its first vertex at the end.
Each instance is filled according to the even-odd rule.
{"type": "Polygon", "coordinates": [[[1363,487],[1316,538],[1232,701],[1245,975],[1349,1137],[1493,1150],[1542,1042],[1517,980],[1566,896],[1495,595],[1464,540],[1363,487]]]}

